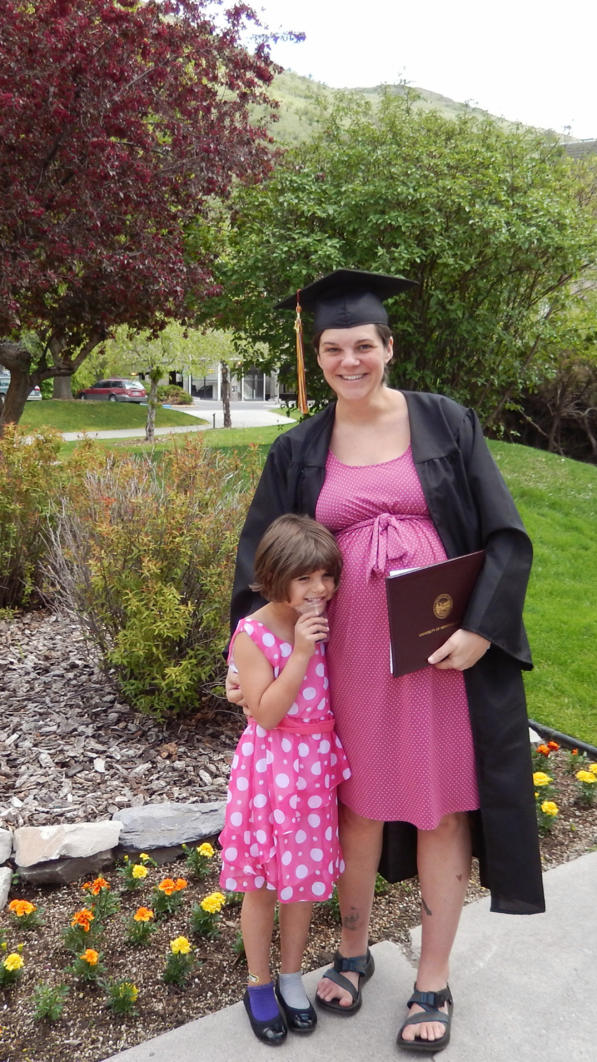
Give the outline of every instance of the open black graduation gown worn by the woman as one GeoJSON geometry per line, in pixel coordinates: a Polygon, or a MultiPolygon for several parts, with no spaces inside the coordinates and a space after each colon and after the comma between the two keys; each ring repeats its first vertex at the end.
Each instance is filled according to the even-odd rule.
{"type": "MultiPolygon", "coordinates": [[[[492,911],[532,914],[545,909],[521,671],[532,667],[522,621],[532,547],[476,414],[442,395],[403,393],[412,458],[447,556],[487,551],[462,624],[491,641],[464,671],[480,804],[471,812],[473,850],[492,911]]],[[[334,417],[332,404],[270,448],[239,543],[232,630],[263,603],[249,583],[266,528],[283,513],[315,516],[334,417]]],[[[410,823],[386,823],[380,871],[390,881],[417,873],[410,823]]]]}

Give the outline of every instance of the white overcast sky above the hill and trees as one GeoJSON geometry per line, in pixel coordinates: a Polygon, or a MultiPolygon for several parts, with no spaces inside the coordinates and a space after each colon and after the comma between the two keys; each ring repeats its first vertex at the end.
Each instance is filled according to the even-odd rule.
{"type": "Polygon", "coordinates": [[[253,0],[301,30],[274,57],[333,87],[394,83],[529,125],[597,137],[597,0],[253,0]]]}

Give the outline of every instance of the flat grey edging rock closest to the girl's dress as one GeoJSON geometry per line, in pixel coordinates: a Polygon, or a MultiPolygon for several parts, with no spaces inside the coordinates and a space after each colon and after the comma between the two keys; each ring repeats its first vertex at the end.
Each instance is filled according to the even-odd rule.
{"type": "Polygon", "coordinates": [[[214,837],[224,828],[226,804],[145,804],[118,812],[124,852],[150,852],[214,837]]]}

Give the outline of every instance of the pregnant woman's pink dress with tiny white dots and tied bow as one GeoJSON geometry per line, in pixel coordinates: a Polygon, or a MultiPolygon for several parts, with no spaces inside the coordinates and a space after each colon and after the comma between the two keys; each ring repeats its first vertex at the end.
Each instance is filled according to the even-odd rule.
{"type": "Polygon", "coordinates": [[[330,451],[317,519],[340,547],[330,602],[328,667],[336,727],[351,776],[339,799],[357,815],[433,829],[477,808],[461,671],[425,667],[392,678],[384,577],[445,560],[410,447],[383,464],[341,464],[330,451]]]}

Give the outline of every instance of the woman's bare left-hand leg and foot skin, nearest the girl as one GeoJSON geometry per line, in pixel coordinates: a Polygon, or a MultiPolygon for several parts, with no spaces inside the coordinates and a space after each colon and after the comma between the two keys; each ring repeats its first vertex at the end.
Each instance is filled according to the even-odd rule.
{"type": "MultiPolygon", "coordinates": [[[[343,918],[339,952],[348,959],[367,952],[384,824],[374,819],[364,819],[344,804],[338,804],[338,821],[346,864],[346,870],[338,879],[343,918]]],[[[358,984],[358,974],[347,973],[344,976],[355,987],[358,984]]],[[[339,999],[341,1007],[348,1007],[352,1003],[350,994],[327,977],[319,981],[317,995],[321,999],[339,999]]]]}

